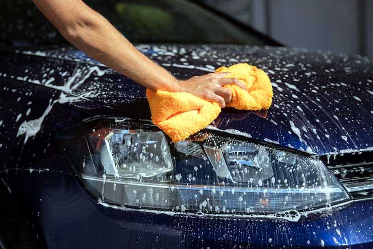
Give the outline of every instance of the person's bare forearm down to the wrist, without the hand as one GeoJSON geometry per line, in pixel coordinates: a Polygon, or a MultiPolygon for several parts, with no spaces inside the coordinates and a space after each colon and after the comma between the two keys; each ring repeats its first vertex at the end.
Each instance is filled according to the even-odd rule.
{"type": "MultiPolygon", "coordinates": [[[[62,0],[55,1],[57,5],[59,1],[62,0]]],[[[38,0],[35,0],[36,4],[37,2],[38,0]]],[[[55,21],[55,26],[69,42],[146,88],[154,91],[180,91],[175,77],[139,52],[104,17],[89,7],[82,6],[83,2],[78,3],[78,6],[74,4],[61,4],[63,8],[68,8],[65,11],[70,13],[68,18],[63,20],[64,25],[58,25],[58,20],[55,21]]],[[[43,11],[43,7],[39,8],[43,11]]],[[[47,14],[46,16],[48,18],[47,14]]],[[[53,18],[50,21],[54,24],[53,18]]]]}

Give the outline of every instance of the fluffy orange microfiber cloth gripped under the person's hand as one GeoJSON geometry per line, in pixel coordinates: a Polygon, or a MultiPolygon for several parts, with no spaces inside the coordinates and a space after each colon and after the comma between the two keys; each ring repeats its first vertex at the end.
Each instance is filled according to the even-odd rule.
{"type": "MultiPolygon", "coordinates": [[[[268,109],[272,103],[272,85],[262,70],[248,64],[218,68],[216,73],[231,72],[227,78],[237,78],[247,91],[230,84],[232,102],[227,106],[239,110],[268,109]]],[[[217,103],[198,98],[190,93],[154,92],[146,89],[146,98],[152,112],[153,123],[163,130],[173,142],[179,142],[204,129],[220,113],[217,103]]]]}

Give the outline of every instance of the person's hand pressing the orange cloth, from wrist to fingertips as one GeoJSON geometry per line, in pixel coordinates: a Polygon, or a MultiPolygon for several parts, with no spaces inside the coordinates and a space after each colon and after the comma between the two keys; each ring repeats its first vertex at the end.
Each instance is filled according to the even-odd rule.
{"type": "Polygon", "coordinates": [[[199,98],[216,102],[221,108],[232,101],[231,89],[222,87],[235,84],[244,90],[246,86],[236,78],[227,78],[230,72],[210,73],[202,76],[194,76],[185,81],[179,81],[181,91],[191,93],[199,98]]]}

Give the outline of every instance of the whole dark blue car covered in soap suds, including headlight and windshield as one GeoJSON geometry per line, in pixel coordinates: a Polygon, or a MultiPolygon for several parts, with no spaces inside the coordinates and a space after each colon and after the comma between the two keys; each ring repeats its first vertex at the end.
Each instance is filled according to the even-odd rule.
{"type": "Polygon", "coordinates": [[[373,248],[367,57],[280,46],[196,2],[89,4],[180,79],[264,70],[273,103],[172,143],[143,87],[7,1],[0,247],[373,248]]]}

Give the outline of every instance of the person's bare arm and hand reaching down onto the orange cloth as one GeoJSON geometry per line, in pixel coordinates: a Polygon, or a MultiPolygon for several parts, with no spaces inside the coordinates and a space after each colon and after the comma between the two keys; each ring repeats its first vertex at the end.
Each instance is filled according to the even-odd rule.
{"type": "Polygon", "coordinates": [[[232,92],[222,88],[245,85],[228,73],[210,73],[180,81],[138,51],[103,16],[82,0],[33,0],[62,36],[92,58],[153,91],[188,92],[221,107],[231,102],[232,92]]]}

